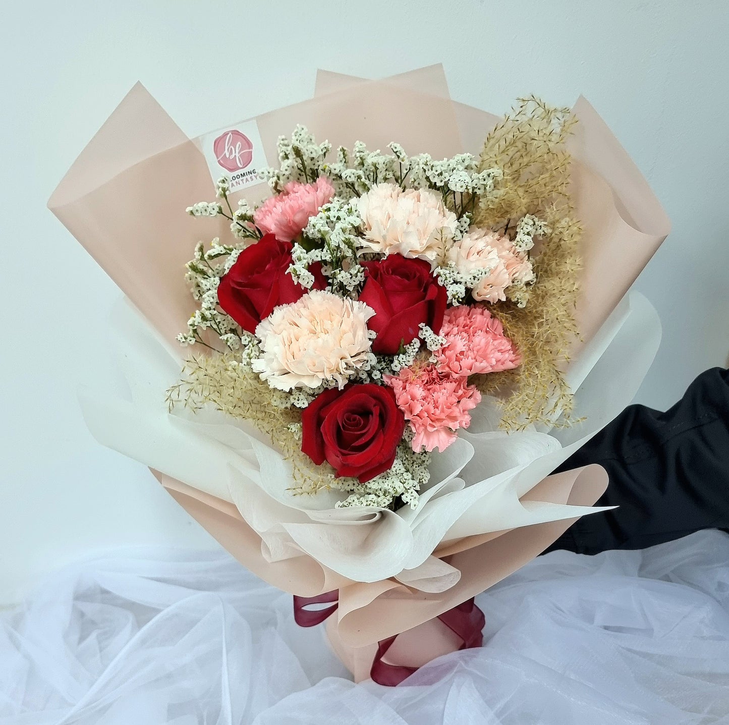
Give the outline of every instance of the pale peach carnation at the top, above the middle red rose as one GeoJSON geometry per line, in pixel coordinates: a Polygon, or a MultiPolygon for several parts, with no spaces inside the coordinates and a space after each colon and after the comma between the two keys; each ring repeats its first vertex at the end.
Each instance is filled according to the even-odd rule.
{"type": "Polygon", "coordinates": [[[365,252],[397,253],[434,265],[456,231],[456,214],[429,189],[402,190],[377,184],[357,202],[362,217],[365,252]]]}

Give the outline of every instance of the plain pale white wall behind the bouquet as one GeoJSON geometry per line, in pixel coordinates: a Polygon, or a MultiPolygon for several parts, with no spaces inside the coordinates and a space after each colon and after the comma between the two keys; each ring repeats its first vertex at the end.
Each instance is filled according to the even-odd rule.
{"type": "Polygon", "coordinates": [[[75,398],[119,293],[45,203],[136,80],[190,136],[302,100],[318,66],[381,77],[442,61],[454,98],[494,112],[584,93],[674,222],[637,282],[664,327],[639,400],[661,407],[729,349],[727,31],[725,0],[5,0],[0,602],[86,552],[214,546],[90,438],[75,398]]]}

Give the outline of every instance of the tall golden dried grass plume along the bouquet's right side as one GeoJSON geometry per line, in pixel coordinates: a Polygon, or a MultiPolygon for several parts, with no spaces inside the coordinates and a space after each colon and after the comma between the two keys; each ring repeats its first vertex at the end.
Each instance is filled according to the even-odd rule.
{"type": "Polygon", "coordinates": [[[569,196],[570,156],[565,141],[576,123],[569,109],[552,108],[538,98],[522,98],[486,137],[481,168],[503,171],[499,195],[483,199],[478,226],[508,228],[524,214],[545,220],[549,233],[534,254],[536,282],[529,303],[506,301],[491,311],[515,342],[522,364],[513,371],[480,376],[482,392],[503,400],[502,426],[519,430],[530,423],[569,422],[572,391],[564,376],[569,346],[578,334],[577,303],[582,228],[569,196]]]}

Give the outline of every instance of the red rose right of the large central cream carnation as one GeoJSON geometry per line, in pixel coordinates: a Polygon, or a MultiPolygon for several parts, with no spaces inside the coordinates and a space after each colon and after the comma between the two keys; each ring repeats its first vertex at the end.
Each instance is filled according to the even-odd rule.
{"type": "Polygon", "coordinates": [[[388,255],[365,262],[364,267],[367,279],[359,300],[375,311],[367,322],[377,333],[373,352],[396,354],[401,344],[407,345],[418,336],[421,322],[438,333],[448,293],[432,275],[428,262],[388,255]]]}

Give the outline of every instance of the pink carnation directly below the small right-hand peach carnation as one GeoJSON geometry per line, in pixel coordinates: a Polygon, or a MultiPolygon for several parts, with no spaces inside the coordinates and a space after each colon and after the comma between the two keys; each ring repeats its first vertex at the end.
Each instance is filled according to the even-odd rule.
{"type": "Polygon", "coordinates": [[[485,307],[449,308],[439,334],[446,342],[434,355],[438,370],[445,375],[497,373],[521,363],[512,341],[504,335],[502,323],[485,307]]]}

